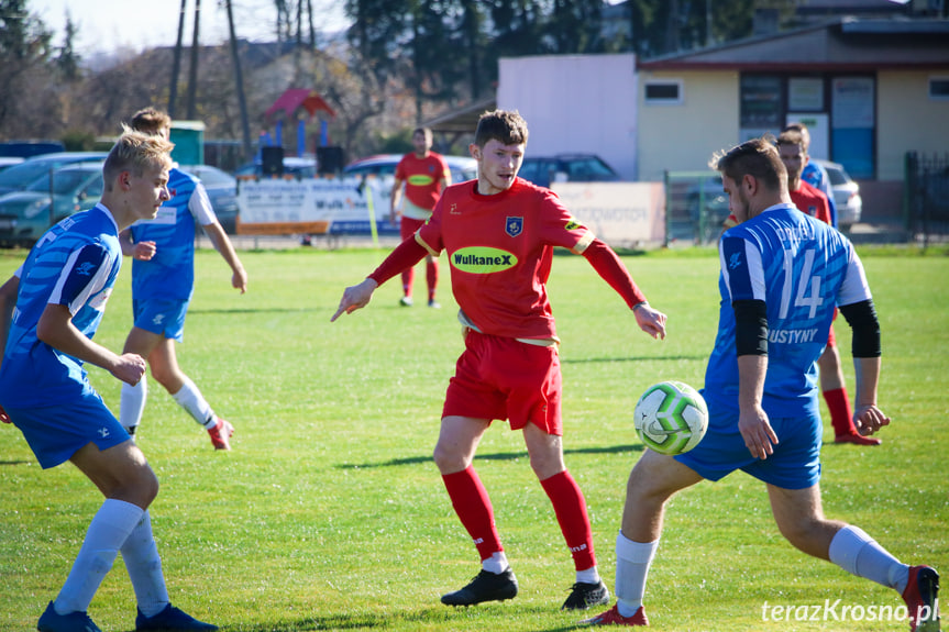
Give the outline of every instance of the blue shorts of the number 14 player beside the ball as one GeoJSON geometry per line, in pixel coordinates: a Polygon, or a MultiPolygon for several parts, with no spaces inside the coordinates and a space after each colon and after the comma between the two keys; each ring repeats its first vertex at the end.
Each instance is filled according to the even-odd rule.
{"type": "Polygon", "coordinates": [[[774,454],[763,461],[748,452],[738,432],[737,413],[716,414],[711,410],[702,443],[675,459],[709,480],[719,480],[741,469],[782,489],[815,486],[820,480],[820,415],[770,418],[769,421],[779,443],[773,446],[774,454]]]}

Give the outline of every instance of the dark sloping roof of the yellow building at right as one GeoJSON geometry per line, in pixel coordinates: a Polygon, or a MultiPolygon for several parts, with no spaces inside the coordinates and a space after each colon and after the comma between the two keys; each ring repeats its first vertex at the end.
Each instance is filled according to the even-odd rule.
{"type": "Polygon", "coordinates": [[[640,59],[637,67],[771,71],[949,68],[949,20],[835,19],[688,53],[640,59]]]}

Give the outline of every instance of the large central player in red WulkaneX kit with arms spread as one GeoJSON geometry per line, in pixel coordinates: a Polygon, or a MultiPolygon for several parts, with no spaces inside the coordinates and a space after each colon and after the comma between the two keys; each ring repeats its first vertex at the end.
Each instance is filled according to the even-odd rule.
{"type": "Polygon", "coordinates": [[[609,602],[609,591],[596,567],[586,501],[563,461],[559,340],[547,295],[554,246],[586,257],[645,333],[665,337],[665,314],[645,302],[616,253],[554,192],[517,177],[527,138],[516,111],[484,113],[470,146],[478,179],[445,189],[431,220],[367,279],[346,288],[331,320],[365,307],[380,284],[426,254],[446,252],[465,351],[445,395],[434,461],[482,570],[442,602],[472,606],[517,595],[490,499],[472,465],[482,435],[498,419],[523,431],[530,465],[573,555],[576,583],[563,608],[586,609],[609,602]]]}

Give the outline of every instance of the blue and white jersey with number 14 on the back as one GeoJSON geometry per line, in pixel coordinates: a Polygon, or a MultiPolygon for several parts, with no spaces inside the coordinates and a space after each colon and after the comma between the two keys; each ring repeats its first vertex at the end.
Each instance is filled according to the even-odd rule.
{"type": "Polygon", "coordinates": [[[834,309],[867,300],[870,289],[852,244],[825,222],[777,204],[729,229],[719,245],[718,335],[703,395],[709,409],[738,412],[732,301],[768,308],[768,374],[762,408],[770,417],[817,414],[816,361],[834,309]]]}

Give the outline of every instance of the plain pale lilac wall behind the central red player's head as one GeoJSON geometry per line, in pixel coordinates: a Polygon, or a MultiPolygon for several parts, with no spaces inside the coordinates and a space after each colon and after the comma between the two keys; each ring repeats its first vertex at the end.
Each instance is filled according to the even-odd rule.
{"type": "Polygon", "coordinates": [[[529,156],[597,154],[637,178],[634,55],[503,58],[498,75],[497,106],[527,121],[529,156]]]}

